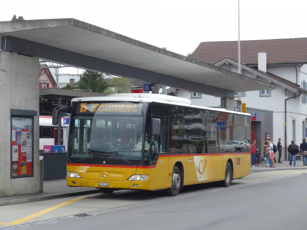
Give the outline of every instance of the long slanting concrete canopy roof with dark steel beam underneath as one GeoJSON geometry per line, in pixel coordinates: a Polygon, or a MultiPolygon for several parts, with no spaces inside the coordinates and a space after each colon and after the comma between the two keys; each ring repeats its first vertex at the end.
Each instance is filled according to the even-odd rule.
{"type": "Polygon", "coordinates": [[[276,88],[73,18],[2,21],[0,34],[2,50],[202,94],[276,88]]]}

